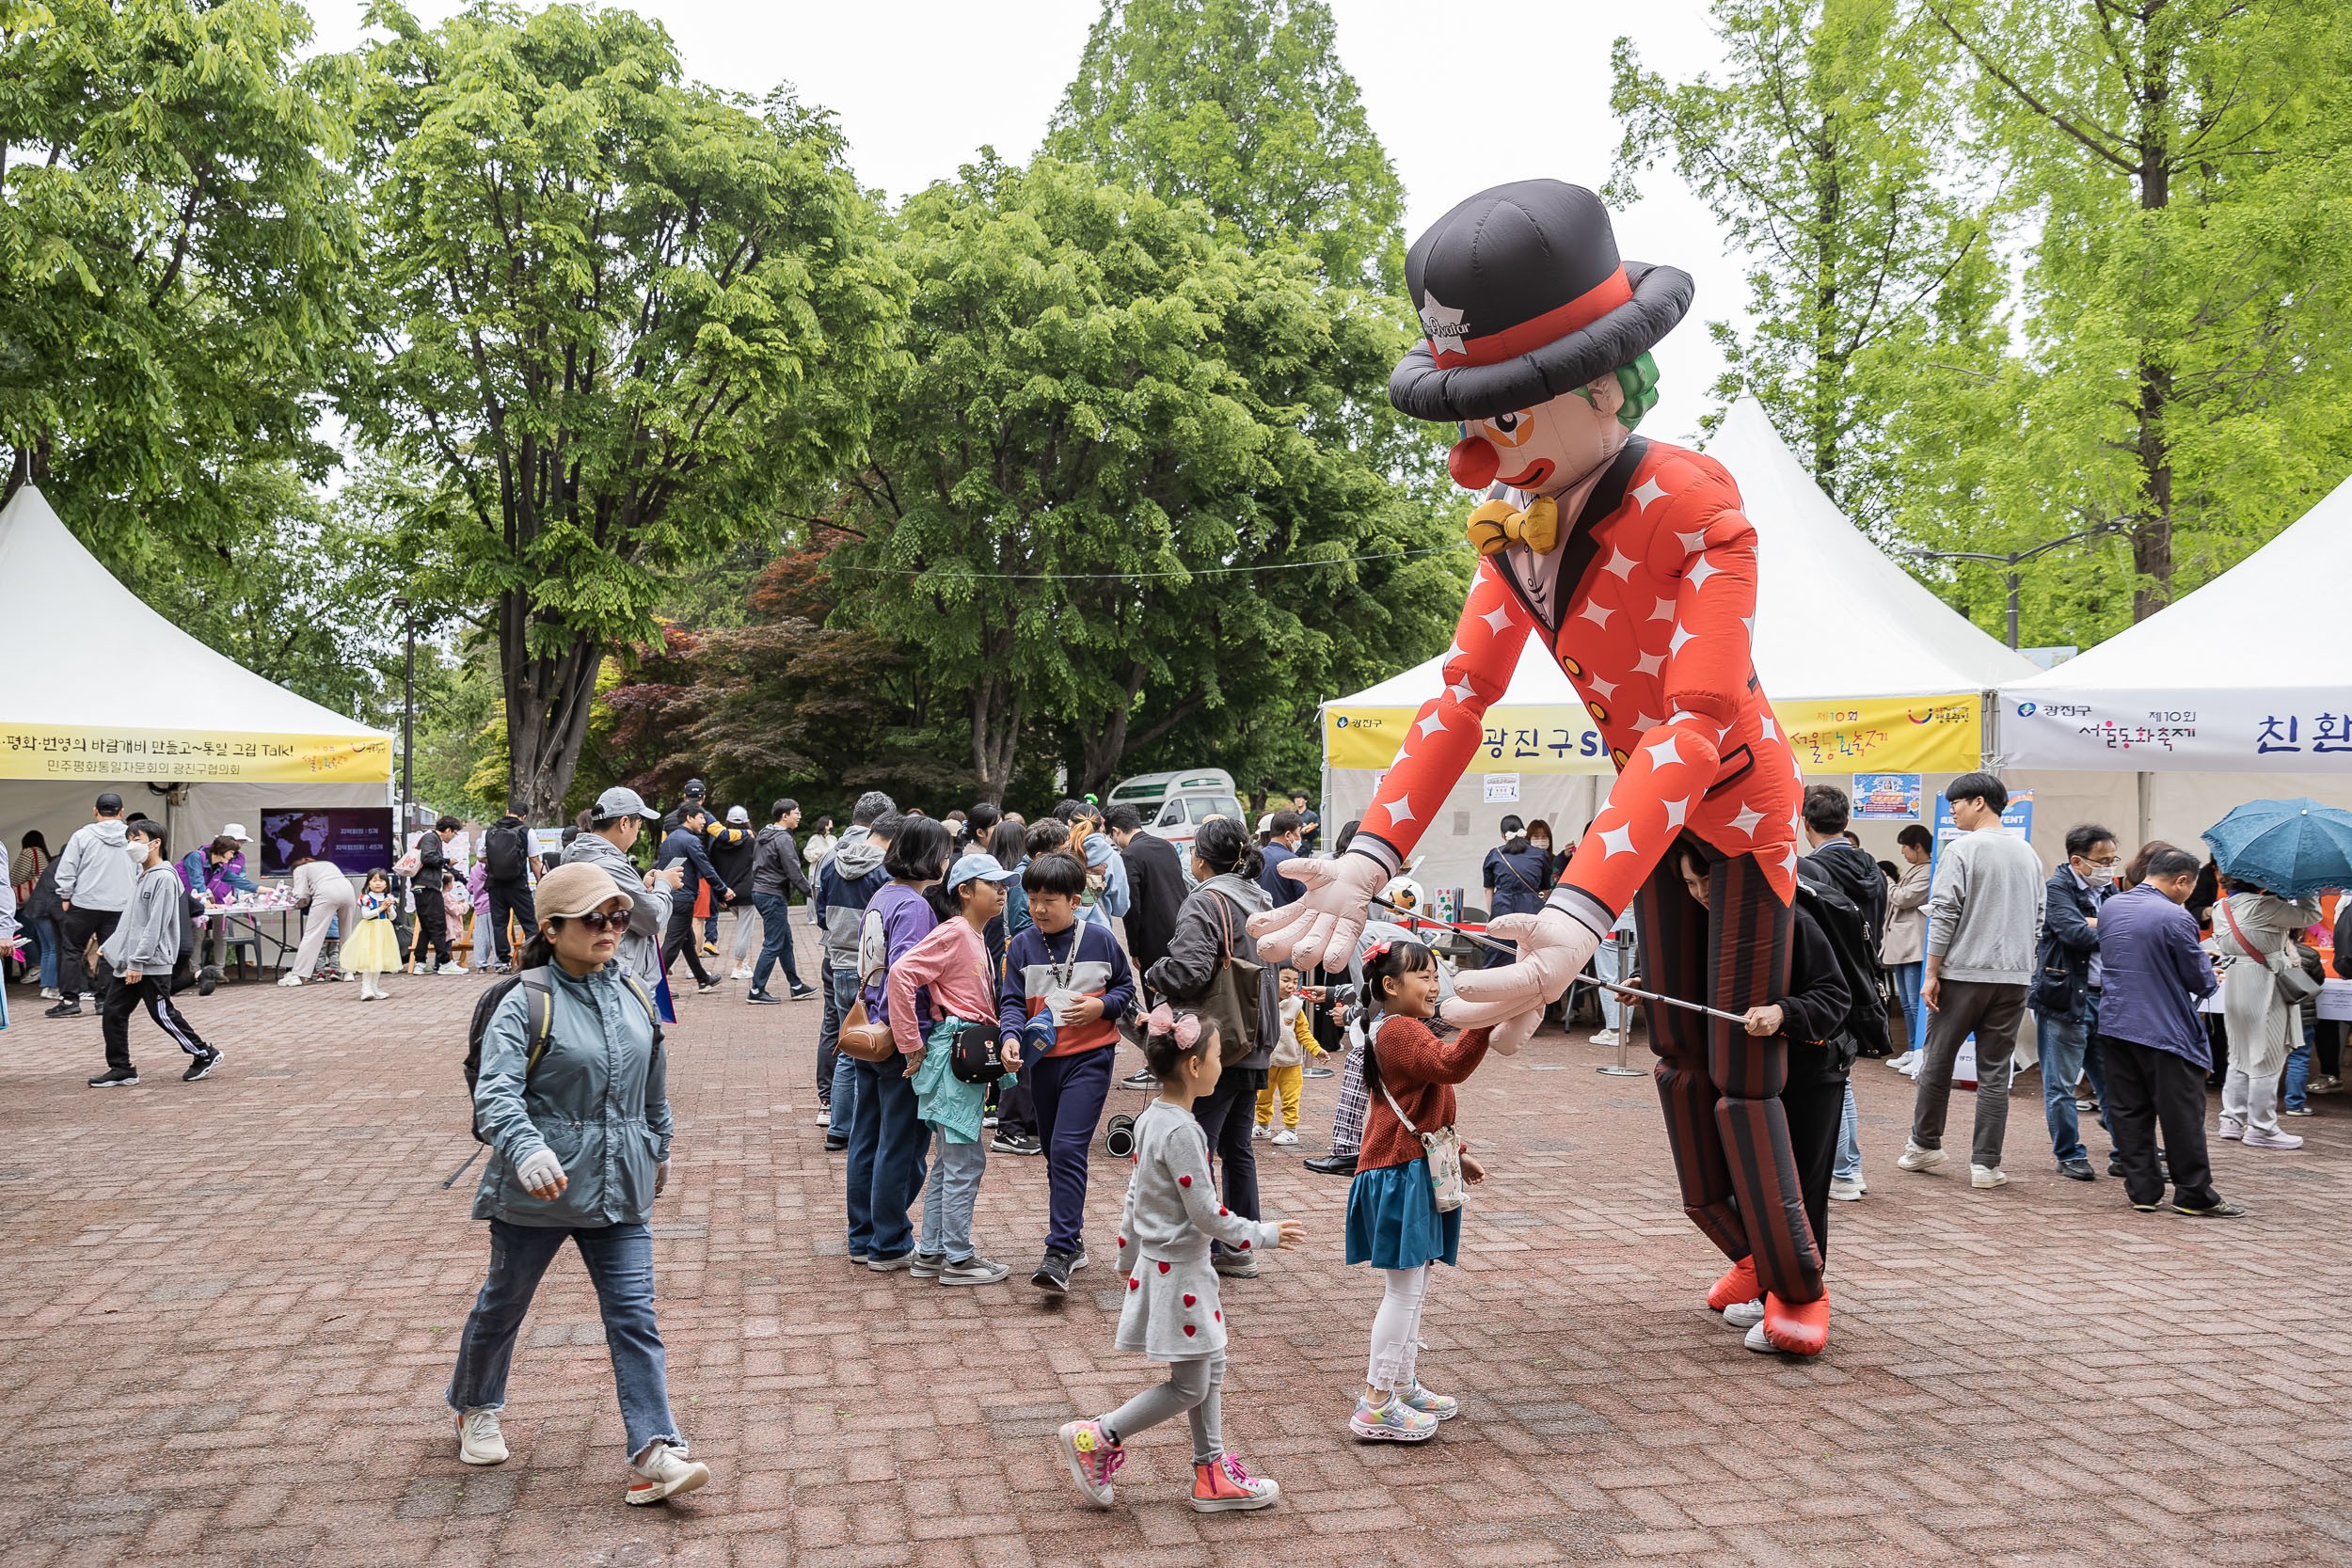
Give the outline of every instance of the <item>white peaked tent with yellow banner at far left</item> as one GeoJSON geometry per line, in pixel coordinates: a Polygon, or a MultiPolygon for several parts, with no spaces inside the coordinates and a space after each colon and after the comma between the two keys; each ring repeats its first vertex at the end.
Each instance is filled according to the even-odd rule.
{"type": "MultiPolygon", "coordinates": [[[[0,508],[0,839],[59,849],[113,790],[181,853],[263,813],[383,813],[393,741],[214,654],[122,588],[31,484],[0,508]]],[[[374,827],[372,820],[358,827],[374,827]]],[[[332,858],[332,856],[329,856],[332,858]]],[[[343,870],[362,870],[346,865],[343,870]]]]}

